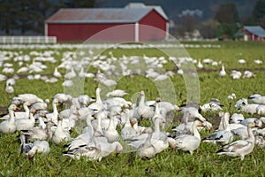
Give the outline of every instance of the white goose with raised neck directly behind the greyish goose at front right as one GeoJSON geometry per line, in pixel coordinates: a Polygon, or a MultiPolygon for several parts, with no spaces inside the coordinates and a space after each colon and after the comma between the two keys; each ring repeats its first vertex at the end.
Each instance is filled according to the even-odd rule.
{"type": "Polygon", "coordinates": [[[215,133],[212,133],[208,136],[206,136],[202,142],[213,142],[216,145],[225,145],[233,141],[234,137],[231,133],[231,129],[229,127],[229,119],[230,119],[230,113],[224,112],[223,113],[223,130],[219,130],[215,133]]]}

